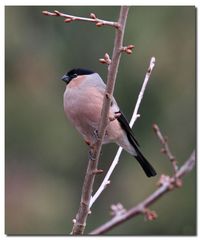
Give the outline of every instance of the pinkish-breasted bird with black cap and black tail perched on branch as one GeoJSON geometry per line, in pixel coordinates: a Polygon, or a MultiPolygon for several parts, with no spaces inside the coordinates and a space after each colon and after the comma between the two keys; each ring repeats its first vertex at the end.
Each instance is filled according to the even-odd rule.
{"type": "MultiPolygon", "coordinates": [[[[92,146],[97,139],[106,85],[98,73],[86,68],[74,68],[61,79],[66,83],[63,96],[65,115],[84,141],[92,146]]],[[[103,144],[114,142],[121,146],[135,157],[147,177],[155,176],[155,169],[141,153],[139,143],[113,96],[108,115],[112,120],[106,127],[103,144]]]]}

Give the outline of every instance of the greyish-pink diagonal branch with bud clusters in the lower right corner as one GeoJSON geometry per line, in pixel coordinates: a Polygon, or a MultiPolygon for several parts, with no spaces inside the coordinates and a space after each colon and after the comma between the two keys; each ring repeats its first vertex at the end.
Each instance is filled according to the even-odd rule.
{"type": "Polygon", "coordinates": [[[160,197],[162,197],[168,191],[175,189],[175,187],[180,187],[176,185],[176,179],[182,179],[187,173],[189,173],[196,162],[195,151],[192,152],[189,159],[182,165],[181,168],[176,172],[176,175],[173,177],[169,176],[162,176],[162,182],[160,182],[159,188],[153,192],[149,197],[147,197],[144,201],[140,202],[137,206],[122,212],[121,214],[115,214],[115,216],[106,222],[105,224],[101,225],[100,227],[96,228],[90,234],[99,235],[109,230],[113,229],[114,227],[118,226],[119,224],[126,222],[130,218],[133,218],[140,214],[147,213],[147,207],[151,204],[155,203],[160,197]]]}

